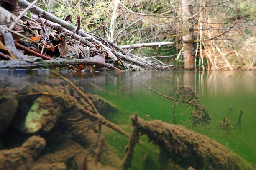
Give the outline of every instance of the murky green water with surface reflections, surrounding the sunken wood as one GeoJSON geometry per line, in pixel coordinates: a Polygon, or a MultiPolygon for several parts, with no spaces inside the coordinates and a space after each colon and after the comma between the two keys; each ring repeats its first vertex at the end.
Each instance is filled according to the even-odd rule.
{"type": "MultiPolygon", "coordinates": [[[[74,82],[77,87],[81,87],[84,92],[100,95],[115,104],[120,113],[115,117],[106,118],[129,132],[132,129],[129,117],[134,112],[138,112],[139,117],[149,115],[147,120],[159,119],[174,123],[174,101],[151,92],[141,85],[141,82],[161,94],[174,98],[177,87],[194,87],[200,96],[201,104],[207,107],[212,118],[210,126],[192,125],[189,116],[193,109],[182,103],[176,107],[176,123],[217,140],[256,166],[256,71],[59,73],[74,82]],[[215,128],[218,120],[222,122],[224,117],[228,117],[234,126],[241,109],[244,110],[241,130],[238,127],[234,130],[215,128]]],[[[0,88],[18,89],[27,83],[33,86],[40,83],[68,85],[63,79],[52,76],[48,70],[0,71],[0,88]]],[[[123,158],[128,140],[115,132],[106,132],[105,138],[115,148],[117,155],[123,158]]],[[[146,137],[142,139],[147,140],[146,137]]],[[[140,159],[148,158],[146,154],[148,153],[145,150],[135,148],[132,169],[145,167],[140,159]]]]}

